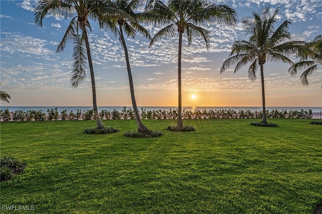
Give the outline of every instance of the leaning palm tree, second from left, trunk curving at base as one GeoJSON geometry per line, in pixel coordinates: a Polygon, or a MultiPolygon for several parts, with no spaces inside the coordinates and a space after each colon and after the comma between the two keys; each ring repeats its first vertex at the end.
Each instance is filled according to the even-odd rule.
{"type": "Polygon", "coordinates": [[[129,54],[124,39],[124,33],[128,37],[134,39],[137,32],[141,33],[145,38],[150,39],[150,34],[148,33],[148,31],[139,24],[138,15],[140,14],[135,13],[135,11],[138,10],[141,7],[141,5],[141,1],[118,0],[113,2],[112,11],[106,14],[105,23],[101,27],[113,32],[114,35],[119,38],[124,48],[127,74],[130,84],[131,100],[133,105],[134,116],[138,127],[138,132],[148,133],[149,130],[142,123],[139,111],[137,109],[129,54]]]}

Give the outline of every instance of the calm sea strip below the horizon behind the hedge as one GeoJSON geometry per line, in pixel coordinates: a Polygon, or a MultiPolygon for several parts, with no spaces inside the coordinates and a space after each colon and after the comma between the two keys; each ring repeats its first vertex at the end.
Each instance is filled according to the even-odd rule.
{"type": "MultiPolygon", "coordinates": [[[[93,109],[92,106],[1,106],[0,109],[1,110],[6,110],[8,109],[10,112],[15,112],[17,110],[21,110],[23,112],[27,112],[27,111],[31,111],[31,110],[35,110],[35,111],[43,111],[43,112],[47,112],[47,110],[49,109],[55,109],[57,108],[57,111],[60,113],[62,112],[63,110],[66,110],[67,113],[69,112],[77,112],[77,110],[81,110],[82,112],[83,111],[86,111],[86,110],[91,110],[93,109]]],[[[98,109],[99,111],[102,111],[102,110],[107,110],[107,111],[113,111],[113,110],[117,110],[119,112],[122,111],[122,109],[124,108],[124,106],[99,106],[98,109]]],[[[127,109],[132,109],[132,106],[127,106],[126,107],[127,109]]],[[[138,109],[139,111],[141,111],[141,108],[143,108],[144,110],[146,111],[157,111],[157,110],[162,110],[162,111],[169,111],[170,109],[171,110],[176,110],[178,109],[178,106],[139,106],[138,109]]],[[[250,110],[251,112],[255,112],[255,111],[261,111],[262,110],[262,107],[259,106],[259,107],[229,107],[229,106],[206,106],[206,107],[203,107],[203,106],[186,106],[186,107],[183,107],[182,109],[186,109],[187,110],[191,110],[191,111],[194,111],[196,109],[198,110],[234,110],[236,112],[238,112],[239,110],[250,110]]],[[[312,110],[313,113],[320,113],[322,111],[322,107],[267,107],[266,110],[278,110],[278,111],[282,111],[282,110],[287,110],[287,111],[301,111],[301,110],[304,110],[304,111],[308,111],[308,110],[312,110]]]]}

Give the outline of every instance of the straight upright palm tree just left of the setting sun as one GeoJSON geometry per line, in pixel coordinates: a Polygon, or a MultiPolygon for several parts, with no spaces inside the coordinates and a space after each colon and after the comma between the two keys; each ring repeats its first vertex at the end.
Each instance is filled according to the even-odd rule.
{"type": "Polygon", "coordinates": [[[146,17],[154,24],[166,25],[157,32],[150,42],[153,43],[162,37],[173,37],[179,33],[178,51],[178,127],[182,124],[182,92],[181,92],[181,55],[182,37],[187,36],[188,46],[191,45],[193,37],[201,37],[209,50],[210,35],[209,31],[200,27],[212,23],[235,25],[236,12],[224,5],[214,5],[206,1],[173,1],[168,4],[162,1],[152,1],[148,5],[146,17]]]}

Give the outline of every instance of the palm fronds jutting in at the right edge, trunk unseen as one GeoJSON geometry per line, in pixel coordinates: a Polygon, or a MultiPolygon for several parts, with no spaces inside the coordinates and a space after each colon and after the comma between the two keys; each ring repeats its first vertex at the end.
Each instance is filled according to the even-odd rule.
{"type": "Polygon", "coordinates": [[[322,65],[322,35],[318,35],[311,42],[306,43],[298,55],[300,61],[293,64],[288,72],[294,76],[298,69],[305,69],[300,80],[303,85],[308,85],[307,77],[322,65]]]}

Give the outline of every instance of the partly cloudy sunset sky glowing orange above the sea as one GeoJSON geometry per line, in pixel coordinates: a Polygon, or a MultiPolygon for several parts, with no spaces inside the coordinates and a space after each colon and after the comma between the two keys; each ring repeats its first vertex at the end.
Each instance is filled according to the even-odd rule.
{"type": "MultiPolygon", "coordinates": [[[[182,91],[183,106],[261,106],[260,71],[258,79],[248,78],[248,67],[234,73],[232,66],[220,74],[222,62],[231,46],[247,35],[240,25],[244,17],[271,4],[280,7],[276,28],[286,19],[292,22],[292,40],[309,41],[322,34],[320,0],[248,0],[214,1],[237,12],[236,27],[213,24],[203,26],[210,31],[210,49],[204,41],[193,40],[190,47],[183,39],[182,91]]],[[[11,95],[2,106],[92,106],[89,70],[86,80],[71,88],[72,44],[56,53],[70,20],[47,16],[43,27],[34,23],[33,9],[37,1],[0,1],[1,90],[11,95]]],[[[101,31],[91,21],[89,33],[99,106],[131,106],[124,50],[117,38],[101,31]]],[[[144,25],[151,36],[162,26],[144,25]]],[[[178,41],[179,36],[163,38],[149,46],[140,35],[127,38],[135,97],[138,106],[178,105],[178,41]]],[[[292,58],[295,62],[298,60],[292,58]]],[[[322,67],[308,77],[302,86],[299,72],[290,76],[289,64],[266,62],[264,65],[266,106],[322,106],[322,67]]],[[[89,66],[88,66],[89,67],[89,66]]]]}

